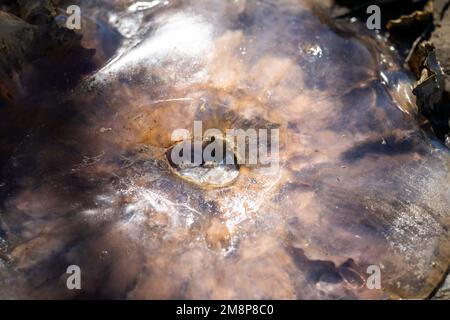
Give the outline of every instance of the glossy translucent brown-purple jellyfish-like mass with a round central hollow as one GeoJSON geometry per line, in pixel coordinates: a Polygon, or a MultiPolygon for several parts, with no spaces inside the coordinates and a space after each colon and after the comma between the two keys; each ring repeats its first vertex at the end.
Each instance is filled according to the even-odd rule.
{"type": "Polygon", "coordinates": [[[313,1],[81,5],[101,65],[16,102],[39,118],[3,168],[1,297],[424,298],[439,284],[450,154],[383,37],[313,1]],[[186,179],[166,154],[194,121],[279,128],[279,170],[186,179]]]}

